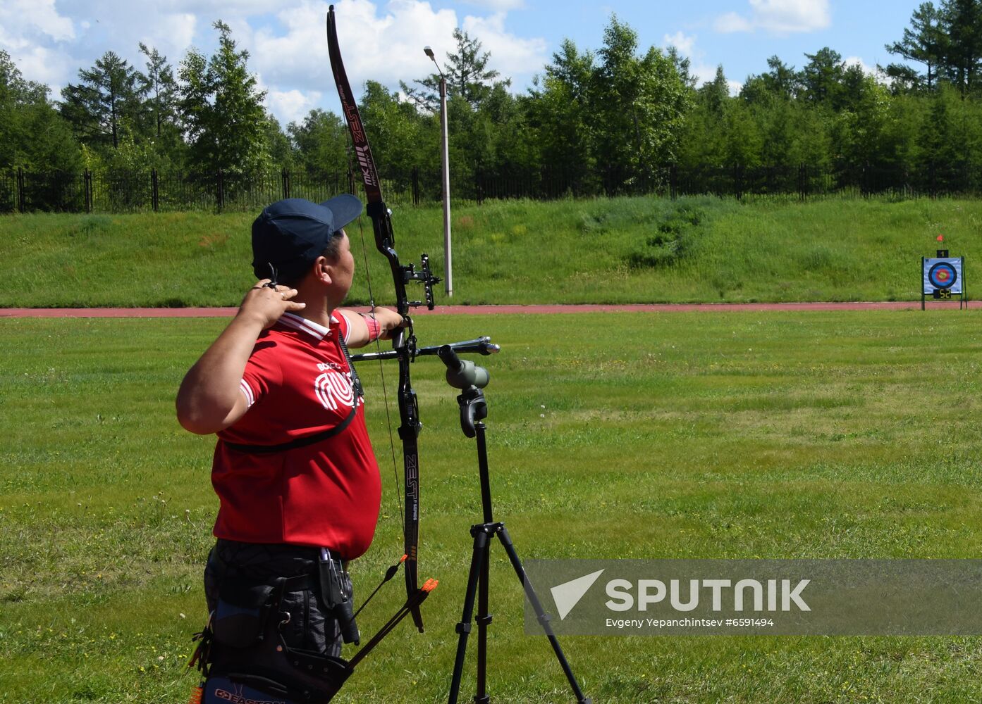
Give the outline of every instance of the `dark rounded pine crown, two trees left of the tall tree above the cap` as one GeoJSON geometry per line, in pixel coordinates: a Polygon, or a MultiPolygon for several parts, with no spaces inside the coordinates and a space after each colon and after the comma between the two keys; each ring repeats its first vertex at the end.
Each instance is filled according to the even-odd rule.
{"type": "Polygon", "coordinates": [[[124,130],[139,118],[139,75],[130,64],[107,51],[89,69],[80,69],[78,84],[62,89],[62,115],[83,144],[119,147],[124,130]]]}

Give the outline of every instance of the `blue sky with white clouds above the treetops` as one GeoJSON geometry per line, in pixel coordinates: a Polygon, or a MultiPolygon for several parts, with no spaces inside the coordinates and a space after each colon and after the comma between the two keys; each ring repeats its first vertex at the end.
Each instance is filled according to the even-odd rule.
{"type": "MultiPolygon", "coordinates": [[[[642,51],[675,45],[703,79],[722,64],[736,90],[775,54],[800,68],[805,53],[830,46],[869,71],[886,65],[893,57],[884,44],[900,39],[920,1],[339,0],[336,11],[353,86],[372,78],[396,89],[400,79],[429,74],[422,47],[445,57],[461,26],[491,52],[491,68],[522,91],[564,38],[598,49],[616,13],[638,32],[642,51]]],[[[315,107],[338,110],[324,37],[327,7],[317,0],[0,0],[0,48],[57,97],[106,51],[142,68],[139,41],[174,65],[191,46],[210,55],[217,39],[211,24],[221,19],[249,51],[267,107],[285,125],[315,107]]]]}

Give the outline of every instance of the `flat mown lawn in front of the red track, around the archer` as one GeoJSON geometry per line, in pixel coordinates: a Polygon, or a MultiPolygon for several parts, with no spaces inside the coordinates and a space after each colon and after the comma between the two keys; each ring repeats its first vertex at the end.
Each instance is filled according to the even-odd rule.
{"type": "MultiPolygon", "coordinates": [[[[964,207],[965,218],[977,208],[941,206],[964,207]]],[[[492,483],[523,558],[968,558],[982,554],[979,324],[975,311],[906,311],[434,317],[416,327],[423,344],[486,333],[503,345],[486,360],[492,483]]],[[[0,320],[0,702],[187,700],[216,500],[213,440],[178,427],[173,397],[222,325],[0,320]]],[[[424,604],[428,629],[396,631],[339,702],[446,698],[479,505],[472,442],[442,370],[421,359],[413,373],[421,576],[441,580],[424,604]]],[[[375,543],[354,568],[364,594],[401,552],[401,528],[377,367],[361,374],[386,492],[375,543]]],[[[493,579],[494,700],[572,701],[547,642],[522,632],[503,554],[493,579]]],[[[391,585],[362,631],[401,596],[391,585]]],[[[598,703],[982,699],[978,637],[563,645],[598,703]]],[[[468,670],[464,700],[472,687],[468,670]]]]}

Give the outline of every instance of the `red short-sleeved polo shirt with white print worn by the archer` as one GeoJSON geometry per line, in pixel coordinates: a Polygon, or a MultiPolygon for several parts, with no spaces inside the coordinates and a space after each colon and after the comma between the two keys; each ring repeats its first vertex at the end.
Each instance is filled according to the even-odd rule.
{"type": "Polygon", "coordinates": [[[368,549],[382,488],[339,334],[348,335],[340,314],[325,328],[287,313],[256,340],[242,381],[249,409],[215,446],[215,536],[328,547],[349,560],[368,549]],[[336,427],[355,404],[348,427],[306,447],[249,454],[226,444],[290,442],[336,427]]]}

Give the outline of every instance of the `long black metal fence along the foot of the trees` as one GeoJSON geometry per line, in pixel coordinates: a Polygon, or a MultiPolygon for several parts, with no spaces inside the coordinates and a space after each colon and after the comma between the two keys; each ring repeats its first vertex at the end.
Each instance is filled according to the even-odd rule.
{"type": "MultiPolygon", "coordinates": [[[[383,177],[382,189],[392,204],[419,205],[441,198],[439,173],[412,169],[409,174],[383,177]]],[[[54,211],[126,213],[142,211],[255,211],[280,198],[322,201],[343,192],[356,192],[360,177],[351,172],[288,171],[262,174],[90,172],[31,173],[22,169],[0,172],[0,213],[54,211]]],[[[982,195],[982,165],[967,162],[928,163],[917,169],[884,166],[728,167],[663,166],[631,179],[609,182],[604,175],[539,173],[475,173],[455,176],[455,200],[478,203],[486,199],[552,200],[596,195],[785,194],[805,199],[834,193],[903,197],[982,195]]]]}

